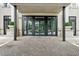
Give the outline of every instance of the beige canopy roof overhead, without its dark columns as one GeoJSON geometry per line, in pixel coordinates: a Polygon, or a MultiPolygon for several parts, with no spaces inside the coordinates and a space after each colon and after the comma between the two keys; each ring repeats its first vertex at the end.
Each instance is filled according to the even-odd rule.
{"type": "Polygon", "coordinates": [[[16,5],[21,13],[56,13],[58,14],[63,6],[69,3],[12,3],[16,5]]]}

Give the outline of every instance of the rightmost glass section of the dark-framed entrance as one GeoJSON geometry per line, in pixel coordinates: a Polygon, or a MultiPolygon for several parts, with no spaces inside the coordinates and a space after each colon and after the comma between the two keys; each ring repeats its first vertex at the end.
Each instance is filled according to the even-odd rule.
{"type": "Polygon", "coordinates": [[[48,17],[48,35],[56,35],[56,17],[48,17]]]}

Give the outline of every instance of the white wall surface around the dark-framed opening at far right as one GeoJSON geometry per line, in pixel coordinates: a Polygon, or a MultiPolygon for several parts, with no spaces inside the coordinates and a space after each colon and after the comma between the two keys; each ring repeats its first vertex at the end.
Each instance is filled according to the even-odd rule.
{"type": "Polygon", "coordinates": [[[76,27],[77,30],[79,30],[79,7],[75,8],[74,6],[72,6],[72,9],[70,7],[71,5],[66,8],[66,22],[69,21],[69,16],[76,16],[76,27]]]}

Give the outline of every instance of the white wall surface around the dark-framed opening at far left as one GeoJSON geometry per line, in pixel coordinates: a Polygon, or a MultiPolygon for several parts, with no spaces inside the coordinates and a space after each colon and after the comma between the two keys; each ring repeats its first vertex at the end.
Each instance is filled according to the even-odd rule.
{"type": "Polygon", "coordinates": [[[0,4],[0,29],[3,32],[3,17],[4,16],[10,16],[11,15],[11,9],[10,8],[4,8],[3,5],[0,4]]]}

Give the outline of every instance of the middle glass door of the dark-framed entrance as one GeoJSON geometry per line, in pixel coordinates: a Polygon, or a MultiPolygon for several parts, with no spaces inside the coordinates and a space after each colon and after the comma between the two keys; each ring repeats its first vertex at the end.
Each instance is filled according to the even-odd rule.
{"type": "Polygon", "coordinates": [[[35,17],[35,35],[44,34],[44,17],[35,17]]]}

